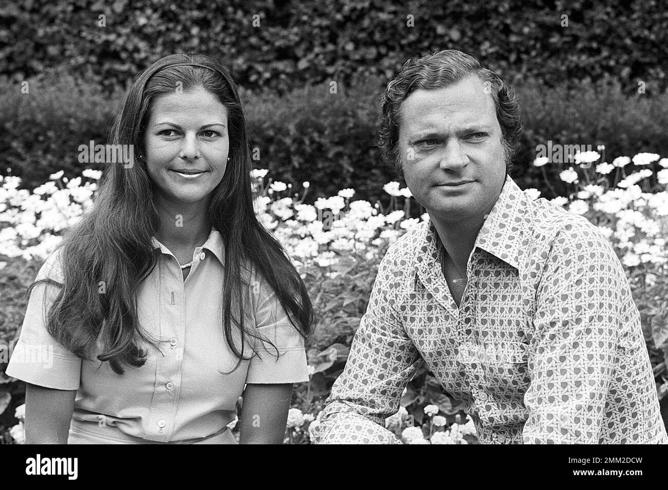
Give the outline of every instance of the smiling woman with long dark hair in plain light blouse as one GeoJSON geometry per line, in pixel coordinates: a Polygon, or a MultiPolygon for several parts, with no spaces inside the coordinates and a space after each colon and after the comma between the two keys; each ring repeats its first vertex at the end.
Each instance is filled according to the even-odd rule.
{"type": "Polygon", "coordinates": [[[94,209],[39,271],[7,368],[28,383],[27,443],[235,443],[240,395],[240,443],[281,443],[313,310],[253,211],[228,71],[160,59],[110,139],[135,158],[106,163],[94,209]],[[26,361],[38,351],[51,367],[26,361]]]}

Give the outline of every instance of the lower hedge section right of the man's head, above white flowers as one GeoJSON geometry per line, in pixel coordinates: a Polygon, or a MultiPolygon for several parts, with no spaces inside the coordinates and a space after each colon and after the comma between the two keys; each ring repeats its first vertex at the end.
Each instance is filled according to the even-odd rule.
{"type": "MultiPolygon", "coordinates": [[[[627,96],[619,83],[587,81],[552,88],[524,81],[517,91],[526,131],[512,176],[523,189],[533,187],[543,191],[544,197],[555,197],[540,169],[531,165],[536,145],[547,145],[550,140],[552,144],[591,145],[594,151],[605,145],[603,157],[608,163],[645,151],[668,155],[668,91],[653,98],[627,96]]],[[[567,184],[558,177],[559,166],[542,168],[557,195],[567,196],[567,184]]]]}

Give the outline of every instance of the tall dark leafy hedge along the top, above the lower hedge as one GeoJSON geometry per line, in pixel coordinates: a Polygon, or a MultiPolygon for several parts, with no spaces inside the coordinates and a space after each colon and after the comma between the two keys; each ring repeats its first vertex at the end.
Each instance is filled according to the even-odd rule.
{"type": "Polygon", "coordinates": [[[3,5],[0,25],[0,72],[15,80],[63,65],[118,87],[159,57],[200,51],[249,89],[285,92],[386,79],[413,55],[454,48],[516,79],[666,84],[659,0],[25,0],[3,5]]]}

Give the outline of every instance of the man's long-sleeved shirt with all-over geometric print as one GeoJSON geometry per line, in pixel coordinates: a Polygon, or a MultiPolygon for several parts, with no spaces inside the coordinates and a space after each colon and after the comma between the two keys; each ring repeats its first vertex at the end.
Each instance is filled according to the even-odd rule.
{"type": "Polygon", "coordinates": [[[391,245],[315,443],[399,443],[385,417],[422,363],[480,443],[668,443],[638,309],[595,225],[506,177],[466,273],[458,307],[429,221],[391,245]]]}

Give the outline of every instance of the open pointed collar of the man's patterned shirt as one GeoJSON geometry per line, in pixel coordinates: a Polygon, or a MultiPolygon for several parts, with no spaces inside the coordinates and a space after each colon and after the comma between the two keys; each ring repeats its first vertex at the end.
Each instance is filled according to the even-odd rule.
{"type": "MultiPolygon", "coordinates": [[[[506,175],[501,193],[478,232],[471,254],[476,248],[480,248],[518,269],[523,224],[528,219],[527,211],[530,202],[530,198],[510,178],[510,175],[506,175]]],[[[429,221],[422,233],[422,240],[420,240],[422,247],[418,250],[416,257],[418,267],[424,265],[427,269],[432,269],[434,264],[428,263],[438,262],[434,224],[429,221]]]]}

